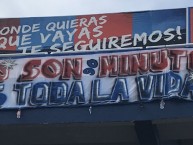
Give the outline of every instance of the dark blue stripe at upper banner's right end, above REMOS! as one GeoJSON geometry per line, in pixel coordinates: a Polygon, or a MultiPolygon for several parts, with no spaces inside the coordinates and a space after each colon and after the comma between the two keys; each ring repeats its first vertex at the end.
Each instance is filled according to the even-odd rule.
{"type": "Polygon", "coordinates": [[[155,30],[165,31],[168,28],[186,28],[186,9],[147,11],[133,14],[133,34],[155,30]]]}

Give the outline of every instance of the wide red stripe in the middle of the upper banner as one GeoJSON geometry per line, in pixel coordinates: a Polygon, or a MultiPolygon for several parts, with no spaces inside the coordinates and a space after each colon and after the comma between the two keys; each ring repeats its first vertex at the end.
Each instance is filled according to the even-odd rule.
{"type": "MultiPolygon", "coordinates": [[[[94,17],[96,19],[99,19],[101,16],[103,15],[94,15],[94,17]]],[[[109,38],[111,36],[117,36],[120,37],[122,35],[128,35],[131,34],[132,35],[132,14],[131,13],[127,13],[127,14],[106,14],[105,16],[107,16],[105,18],[105,20],[107,20],[107,22],[103,25],[99,25],[102,26],[103,28],[101,28],[100,30],[103,32],[102,35],[100,35],[99,37],[93,37],[94,32],[93,32],[93,28],[96,27],[95,24],[92,24],[88,27],[89,31],[90,31],[90,39],[94,40],[94,42],[97,41],[97,39],[103,39],[103,38],[109,38]]],[[[93,16],[79,16],[77,17],[78,19],[81,18],[87,18],[87,20],[90,20],[90,18],[93,16]]],[[[80,41],[78,39],[78,35],[81,31],[83,27],[78,27],[78,31],[75,33],[75,38],[74,38],[74,42],[78,42],[80,41]]],[[[84,40],[86,42],[88,42],[89,40],[86,38],[86,36],[84,36],[83,38],[81,38],[81,40],[84,40]]]]}

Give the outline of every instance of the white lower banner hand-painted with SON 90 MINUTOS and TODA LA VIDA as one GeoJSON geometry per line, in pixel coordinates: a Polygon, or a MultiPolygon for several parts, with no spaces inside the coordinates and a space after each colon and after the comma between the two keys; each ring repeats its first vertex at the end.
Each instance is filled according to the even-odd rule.
{"type": "Polygon", "coordinates": [[[0,82],[1,108],[192,101],[193,48],[5,57],[0,82]]]}

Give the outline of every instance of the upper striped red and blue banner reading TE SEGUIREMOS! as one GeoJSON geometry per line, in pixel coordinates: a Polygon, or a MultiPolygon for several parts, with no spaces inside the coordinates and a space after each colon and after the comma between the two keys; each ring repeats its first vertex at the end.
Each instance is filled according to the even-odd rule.
{"type": "Polygon", "coordinates": [[[186,44],[186,9],[0,19],[0,53],[60,53],[186,44]]]}

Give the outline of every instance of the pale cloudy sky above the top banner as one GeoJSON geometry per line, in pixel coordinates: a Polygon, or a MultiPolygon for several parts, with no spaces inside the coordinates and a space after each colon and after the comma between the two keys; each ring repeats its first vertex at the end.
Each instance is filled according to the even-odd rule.
{"type": "Polygon", "coordinates": [[[0,18],[68,16],[193,7],[193,0],[1,0],[0,18]]]}

